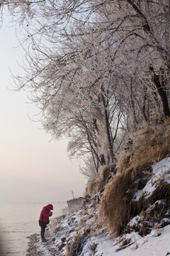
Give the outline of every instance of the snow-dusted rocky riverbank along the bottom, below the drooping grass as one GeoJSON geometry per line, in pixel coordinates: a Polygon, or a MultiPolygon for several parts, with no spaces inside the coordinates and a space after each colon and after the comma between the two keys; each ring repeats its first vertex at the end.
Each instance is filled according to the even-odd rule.
{"type": "Polygon", "coordinates": [[[47,242],[42,243],[40,233],[30,236],[27,256],[69,255],[69,245],[74,239],[72,255],[81,256],[166,256],[170,255],[170,225],[154,228],[142,237],[130,233],[112,238],[108,230],[97,227],[93,210],[79,210],[77,213],[60,216],[47,228],[47,242]],[[130,241],[130,243],[128,243],[130,241]]]}

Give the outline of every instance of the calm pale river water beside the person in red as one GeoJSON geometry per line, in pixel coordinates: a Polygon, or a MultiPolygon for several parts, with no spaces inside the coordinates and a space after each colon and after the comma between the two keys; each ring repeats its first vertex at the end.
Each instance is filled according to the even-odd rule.
{"type": "MultiPolygon", "coordinates": [[[[28,236],[40,232],[40,210],[48,203],[1,203],[0,207],[0,255],[25,256],[28,236]]],[[[52,218],[62,215],[67,203],[52,203],[52,218]]]]}

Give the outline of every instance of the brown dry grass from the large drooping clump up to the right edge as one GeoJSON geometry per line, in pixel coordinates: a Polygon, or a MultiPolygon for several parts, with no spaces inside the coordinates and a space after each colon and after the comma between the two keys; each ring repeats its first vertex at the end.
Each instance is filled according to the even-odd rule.
{"type": "Polygon", "coordinates": [[[130,209],[130,202],[139,182],[145,181],[142,187],[147,182],[148,174],[143,171],[149,173],[153,162],[169,155],[170,119],[167,119],[159,127],[147,127],[138,132],[132,149],[118,160],[118,174],[106,185],[100,206],[102,220],[108,223],[114,233],[120,235],[132,215],[135,215],[130,209]]]}

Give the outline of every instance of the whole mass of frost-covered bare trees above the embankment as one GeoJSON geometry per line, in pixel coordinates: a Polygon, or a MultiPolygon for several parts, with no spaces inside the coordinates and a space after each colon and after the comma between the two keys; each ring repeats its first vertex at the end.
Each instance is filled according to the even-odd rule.
{"type": "Polygon", "coordinates": [[[3,1],[22,28],[26,76],[16,78],[70,156],[114,160],[128,132],[169,110],[169,1],[3,1]],[[22,26],[21,26],[22,25],[22,26]]]}

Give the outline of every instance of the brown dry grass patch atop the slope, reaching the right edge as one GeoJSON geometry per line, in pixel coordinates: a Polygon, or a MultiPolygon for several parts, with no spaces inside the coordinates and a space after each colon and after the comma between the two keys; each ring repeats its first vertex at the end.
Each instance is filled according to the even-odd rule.
{"type": "Polygon", "coordinates": [[[146,127],[136,134],[130,151],[118,160],[118,170],[146,169],[170,155],[170,119],[155,127],[146,127]]]}

